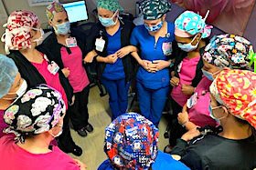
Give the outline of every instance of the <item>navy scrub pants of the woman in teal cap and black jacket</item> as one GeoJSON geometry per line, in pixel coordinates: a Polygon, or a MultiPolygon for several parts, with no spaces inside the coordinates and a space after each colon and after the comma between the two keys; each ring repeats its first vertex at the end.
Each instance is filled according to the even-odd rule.
{"type": "Polygon", "coordinates": [[[101,83],[110,96],[109,104],[112,109],[112,120],[114,120],[119,115],[126,113],[130,83],[127,83],[124,78],[120,80],[101,78],[101,83]]]}

